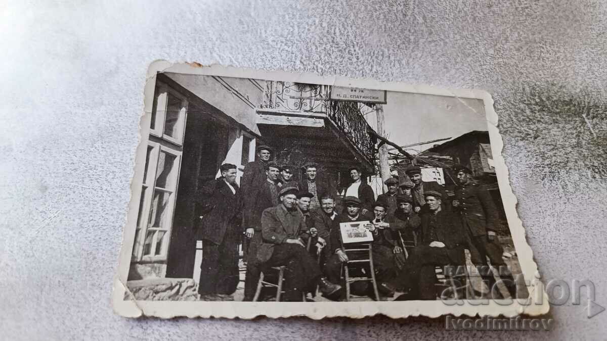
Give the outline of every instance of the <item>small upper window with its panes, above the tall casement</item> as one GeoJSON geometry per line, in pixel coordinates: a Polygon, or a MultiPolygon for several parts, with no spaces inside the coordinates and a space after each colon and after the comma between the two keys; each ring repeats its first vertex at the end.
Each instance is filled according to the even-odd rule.
{"type": "Polygon", "coordinates": [[[150,133],[181,146],[187,111],[185,96],[158,82],[152,103],[150,133]]]}

